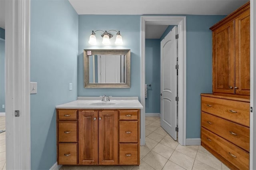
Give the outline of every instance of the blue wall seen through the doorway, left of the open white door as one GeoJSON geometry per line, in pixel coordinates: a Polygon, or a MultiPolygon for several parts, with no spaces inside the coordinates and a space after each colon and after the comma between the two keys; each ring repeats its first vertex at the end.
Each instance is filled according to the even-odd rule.
{"type": "Polygon", "coordinates": [[[160,40],[145,41],[145,82],[148,86],[148,98],[145,99],[146,113],[160,113],[160,40]]]}

